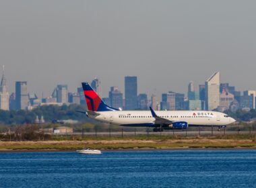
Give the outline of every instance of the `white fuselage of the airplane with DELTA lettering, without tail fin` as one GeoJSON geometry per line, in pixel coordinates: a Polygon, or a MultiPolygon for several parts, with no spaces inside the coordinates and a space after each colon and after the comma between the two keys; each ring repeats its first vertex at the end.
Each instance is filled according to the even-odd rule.
{"type": "MultiPolygon", "coordinates": [[[[155,111],[160,118],[172,122],[187,122],[189,126],[226,126],[235,122],[233,118],[218,111],[155,111]]],[[[156,126],[150,111],[98,111],[88,114],[100,122],[118,126],[156,126]]]]}

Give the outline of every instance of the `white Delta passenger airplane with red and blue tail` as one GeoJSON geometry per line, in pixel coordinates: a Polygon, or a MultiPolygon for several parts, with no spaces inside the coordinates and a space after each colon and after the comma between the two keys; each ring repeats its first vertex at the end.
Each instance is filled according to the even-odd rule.
{"type": "Polygon", "coordinates": [[[154,132],[163,130],[183,130],[191,126],[217,126],[226,127],[236,122],[225,113],[218,111],[122,111],[110,107],[100,99],[99,95],[88,83],[82,83],[88,111],[77,111],[86,113],[88,118],[98,120],[107,124],[117,126],[150,127],[154,132]]]}

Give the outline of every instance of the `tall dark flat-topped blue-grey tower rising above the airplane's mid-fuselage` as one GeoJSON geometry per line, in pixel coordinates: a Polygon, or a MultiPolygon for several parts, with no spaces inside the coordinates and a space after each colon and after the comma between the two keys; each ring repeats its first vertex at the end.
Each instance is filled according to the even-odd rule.
{"type": "Polygon", "coordinates": [[[125,77],[125,109],[137,109],[137,77],[125,77]]]}

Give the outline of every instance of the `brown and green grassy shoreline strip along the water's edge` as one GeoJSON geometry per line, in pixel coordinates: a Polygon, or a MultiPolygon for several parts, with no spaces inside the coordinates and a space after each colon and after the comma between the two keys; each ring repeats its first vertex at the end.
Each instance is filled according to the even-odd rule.
{"type": "Polygon", "coordinates": [[[256,149],[254,139],[166,139],[166,140],[46,140],[3,141],[0,152],[65,152],[82,148],[102,151],[128,150],[241,150],[256,149]]]}

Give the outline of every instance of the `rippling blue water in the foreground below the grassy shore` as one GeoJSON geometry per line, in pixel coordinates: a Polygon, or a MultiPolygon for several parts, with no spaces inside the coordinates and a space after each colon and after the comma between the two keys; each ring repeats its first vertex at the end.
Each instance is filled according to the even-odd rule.
{"type": "Polygon", "coordinates": [[[0,153],[0,187],[256,187],[256,150],[0,153]]]}

